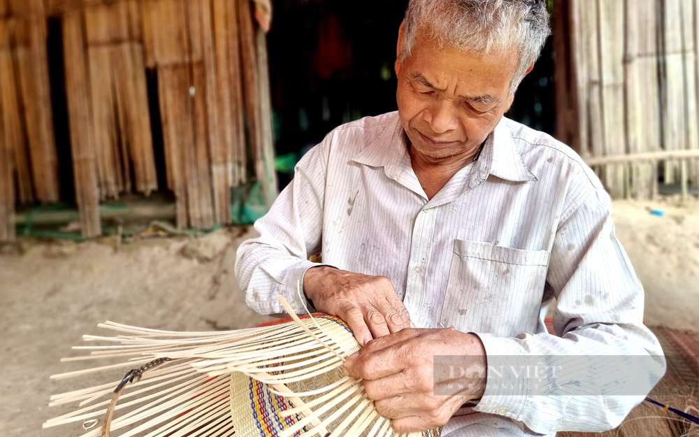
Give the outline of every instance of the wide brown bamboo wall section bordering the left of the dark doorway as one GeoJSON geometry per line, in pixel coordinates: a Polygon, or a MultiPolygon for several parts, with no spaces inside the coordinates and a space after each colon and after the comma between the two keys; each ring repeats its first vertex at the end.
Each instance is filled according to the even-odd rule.
{"type": "Polygon", "coordinates": [[[249,180],[248,155],[254,159],[252,177],[261,181],[271,203],[276,195],[271,108],[261,103],[269,100],[269,85],[266,70],[260,73],[268,66],[261,51],[266,50],[264,34],[257,36],[252,4],[140,4],[146,65],[158,76],[167,180],[177,197],[178,226],[231,221],[231,188],[249,180]]]}

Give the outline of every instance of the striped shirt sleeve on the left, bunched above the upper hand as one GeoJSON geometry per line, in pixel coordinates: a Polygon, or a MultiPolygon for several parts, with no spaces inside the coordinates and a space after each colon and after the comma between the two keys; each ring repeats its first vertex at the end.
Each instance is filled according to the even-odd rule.
{"type": "Polygon", "coordinates": [[[259,237],[245,241],[236,257],[236,278],[247,305],[260,314],[282,314],[280,294],[296,313],[305,314],[303,275],[315,266],[310,255],[322,246],[323,206],[331,134],[306,153],[294,180],[269,212],[254,224],[259,237]]]}

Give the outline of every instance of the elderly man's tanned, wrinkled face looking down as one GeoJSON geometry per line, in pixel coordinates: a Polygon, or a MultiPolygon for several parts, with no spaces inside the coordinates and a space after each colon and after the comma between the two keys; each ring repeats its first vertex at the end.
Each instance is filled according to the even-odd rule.
{"type": "Polygon", "coordinates": [[[473,152],[512,104],[516,62],[514,51],[482,57],[416,38],[412,55],[396,62],[398,113],[412,147],[432,159],[473,152]]]}

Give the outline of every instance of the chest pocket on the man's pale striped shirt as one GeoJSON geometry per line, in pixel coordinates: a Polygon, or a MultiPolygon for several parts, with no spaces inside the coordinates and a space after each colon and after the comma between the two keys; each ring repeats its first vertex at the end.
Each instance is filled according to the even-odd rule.
{"type": "Polygon", "coordinates": [[[454,240],[442,327],[503,337],[534,331],[549,255],[546,250],[454,240]]]}

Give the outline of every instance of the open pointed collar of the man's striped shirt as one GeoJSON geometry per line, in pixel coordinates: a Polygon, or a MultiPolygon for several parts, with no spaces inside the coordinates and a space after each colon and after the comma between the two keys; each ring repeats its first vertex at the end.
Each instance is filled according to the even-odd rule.
{"type": "MultiPolygon", "coordinates": [[[[352,161],[374,167],[383,166],[387,175],[391,176],[400,168],[406,151],[405,132],[396,113],[395,122],[385,124],[382,133],[354,155],[352,161]]],[[[517,152],[505,117],[487,137],[480,157],[470,173],[469,187],[480,185],[489,175],[512,182],[538,180],[517,152]]]]}

